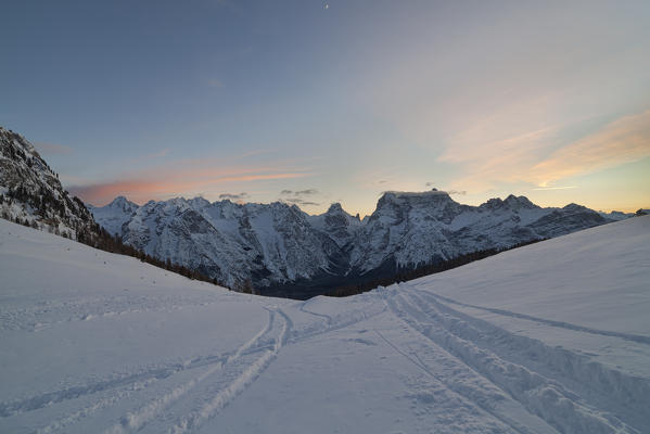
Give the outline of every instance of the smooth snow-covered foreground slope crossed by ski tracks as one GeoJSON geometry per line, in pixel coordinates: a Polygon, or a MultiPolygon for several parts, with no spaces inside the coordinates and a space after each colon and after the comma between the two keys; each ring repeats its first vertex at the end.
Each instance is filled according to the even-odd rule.
{"type": "Polygon", "coordinates": [[[650,217],[349,298],[0,220],[0,432],[647,433],[650,217]]]}

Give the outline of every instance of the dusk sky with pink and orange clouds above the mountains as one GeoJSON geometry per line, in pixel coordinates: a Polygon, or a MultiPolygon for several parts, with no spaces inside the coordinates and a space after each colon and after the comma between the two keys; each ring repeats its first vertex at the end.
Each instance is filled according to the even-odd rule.
{"type": "Polygon", "coordinates": [[[650,2],[7,1],[0,125],[93,205],[650,207],[650,2]]]}

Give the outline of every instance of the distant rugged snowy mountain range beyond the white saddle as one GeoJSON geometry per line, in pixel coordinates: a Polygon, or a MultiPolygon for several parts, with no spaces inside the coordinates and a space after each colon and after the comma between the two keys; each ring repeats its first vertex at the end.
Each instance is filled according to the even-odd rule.
{"type": "Polygon", "coordinates": [[[390,277],[462,254],[552,238],[613,221],[575,204],[540,208],[526,197],[461,205],[442,191],[387,192],[361,221],[340,204],[309,216],[284,203],[117,197],[90,207],[126,243],[237,288],[303,297],[354,279],[390,277]]]}

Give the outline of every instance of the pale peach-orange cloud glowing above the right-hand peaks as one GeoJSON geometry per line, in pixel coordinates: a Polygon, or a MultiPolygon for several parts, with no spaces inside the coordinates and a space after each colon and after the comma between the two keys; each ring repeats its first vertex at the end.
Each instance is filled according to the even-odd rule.
{"type": "Polygon", "coordinates": [[[548,126],[490,142],[461,141],[438,159],[457,164],[462,170],[453,186],[485,191],[514,182],[555,187],[555,182],[572,176],[650,155],[650,111],[622,117],[558,148],[564,128],[566,125],[548,126]]]}

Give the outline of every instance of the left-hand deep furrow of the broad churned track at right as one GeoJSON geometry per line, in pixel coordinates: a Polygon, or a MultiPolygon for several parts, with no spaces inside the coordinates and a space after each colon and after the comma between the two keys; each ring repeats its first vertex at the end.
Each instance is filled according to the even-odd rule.
{"type": "MultiPolygon", "coordinates": [[[[488,347],[480,346],[473,339],[482,337],[488,331],[484,328],[468,330],[472,328],[468,321],[474,321],[471,318],[455,317],[449,312],[450,309],[443,314],[433,303],[426,303],[418,293],[408,290],[408,285],[402,285],[388,304],[395,315],[411,328],[456,356],[559,432],[638,433],[608,410],[592,408],[579,395],[558,383],[557,379],[548,379],[530,366],[505,360],[488,347]]],[[[515,336],[500,337],[502,342],[512,340],[517,343],[515,336]]],[[[518,355],[522,358],[527,357],[525,352],[530,348],[518,348],[507,341],[506,345],[510,350],[519,350],[518,355]]],[[[622,393],[634,393],[635,385],[630,385],[633,390],[622,393]]],[[[647,392],[642,391],[641,396],[642,393],[647,392]]],[[[634,399],[632,397],[629,403],[635,403],[634,399]]],[[[636,403],[637,406],[647,405],[642,400],[636,403]]]]}

